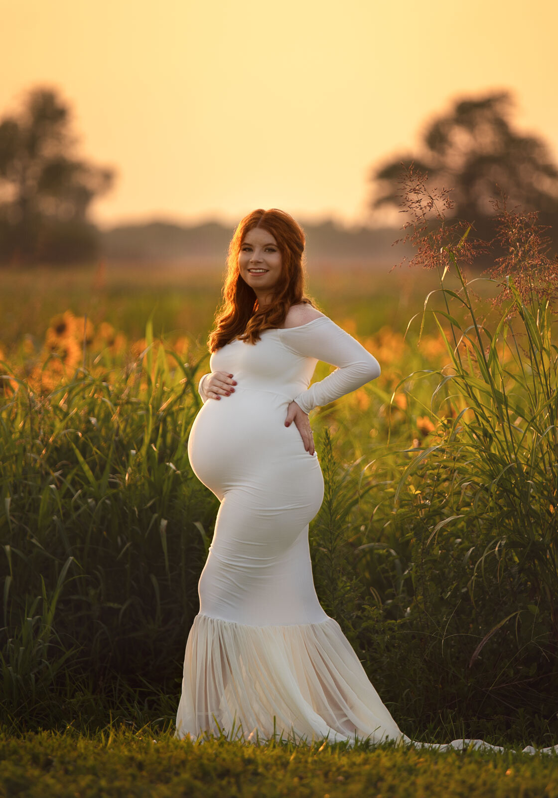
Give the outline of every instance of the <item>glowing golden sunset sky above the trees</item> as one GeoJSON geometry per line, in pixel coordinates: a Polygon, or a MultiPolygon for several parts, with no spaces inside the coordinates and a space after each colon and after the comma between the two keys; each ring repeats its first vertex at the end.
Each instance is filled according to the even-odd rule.
{"type": "Polygon", "coordinates": [[[556,0],[0,0],[0,10],[0,116],[29,89],[59,91],[77,154],[118,170],[92,203],[102,226],[237,223],[256,207],[390,221],[367,215],[371,168],[417,154],[454,98],[493,89],[512,91],[513,127],[558,161],[556,0]]]}

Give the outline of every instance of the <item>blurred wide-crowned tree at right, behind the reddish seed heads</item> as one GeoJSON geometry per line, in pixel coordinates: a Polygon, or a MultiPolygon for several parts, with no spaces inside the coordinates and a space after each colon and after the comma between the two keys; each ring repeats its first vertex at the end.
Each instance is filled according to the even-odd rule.
{"type": "Polygon", "coordinates": [[[428,184],[451,188],[455,204],[447,217],[473,222],[481,239],[492,238],[490,199],[501,192],[509,208],[518,204],[524,211],[539,211],[541,223],[555,223],[558,168],[542,140],[521,136],[510,126],[512,105],[508,91],[455,101],[450,113],[427,125],[422,155],[395,157],[371,172],[375,196],[369,207],[400,207],[403,161],[405,168],[414,162],[416,170],[427,172],[428,184]]]}

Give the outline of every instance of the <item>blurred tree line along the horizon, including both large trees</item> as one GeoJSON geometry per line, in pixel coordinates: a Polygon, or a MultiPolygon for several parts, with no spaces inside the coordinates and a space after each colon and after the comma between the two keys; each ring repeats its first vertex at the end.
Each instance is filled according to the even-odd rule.
{"type": "MultiPolygon", "coordinates": [[[[494,239],[495,199],[508,207],[535,211],[550,229],[556,251],[558,168],[548,146],[524,136],[510,123],[509,91],[454,100],[435,117],[422,136],[422,152],[406,153],[371,169],[368,182],[371,217],[379,208],[401,206],[401,183],[411,164],[432,186],[450,190],[448,219],[473,224],[477,239],[494,239]]],[[[0,264],[29,267],[34,263],[84,263],[102,255],[114,259],[147,259],[186,254],[226,255],[232,228],[206,223],[195,227],[164,221],[120,225],[102,231],[89,218],[93,199],[104,196],[117,176],[114,167],[100,167],[76,156],[71,109],[49,88],[31,89],[21,113],[0,119],[0,264]]],[[[429,220],[436,227],[433,209],[429,220]]],[[[316,255],[342,258],[348,251],[365,257],[389,250],[396,228],[362,227],[346,231],[332,221],[304,224],[316,255]]],[[[493,257],[501,254],[493,247],[493,257]]]]}

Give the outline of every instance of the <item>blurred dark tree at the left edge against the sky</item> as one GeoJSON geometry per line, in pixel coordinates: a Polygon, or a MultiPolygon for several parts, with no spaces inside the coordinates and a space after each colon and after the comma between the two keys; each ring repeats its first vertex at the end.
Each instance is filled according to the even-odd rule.
{"type": "Polygon", "coordinates": [[[98,254],[89,203],[113,169],[73,158],[70,111],[53,89],[32,89],[21,115],[0,120],[0,260],[69,263],[98,254]]]}

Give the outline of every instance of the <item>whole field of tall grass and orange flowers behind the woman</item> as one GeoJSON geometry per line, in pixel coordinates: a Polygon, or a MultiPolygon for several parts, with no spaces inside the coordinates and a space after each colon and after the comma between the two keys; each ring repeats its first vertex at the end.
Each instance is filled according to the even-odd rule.
{"type": "MultiPolygon", "coordinates": [[[[222,269],[0,277],[3,723],[168,728],[217,511],[187,437],[222,269]]],[[[500,324],[495,286],[474,282],[470,310],[434,294],[441,327],[426,314],[417,346],[439,287],[407,266],[309,275],[382,366],[312,411],[316,591],[411,737],[551,745],[555,322],[543,307],[500,324]]],[[[457,275],[444,287],[465,298],[457,275]]]]}

